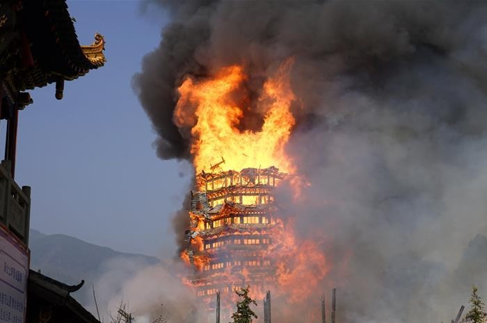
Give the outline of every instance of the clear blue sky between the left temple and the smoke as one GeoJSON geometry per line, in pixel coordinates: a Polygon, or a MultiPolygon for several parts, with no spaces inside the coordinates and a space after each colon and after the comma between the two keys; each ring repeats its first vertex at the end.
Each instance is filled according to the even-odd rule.
{"type": "Polygon", "coordinates": [[[107,63],[65,83],[61,101],[54,85],[31,91],[34,103],[20,113],[16,181],[32,186],[31,228],[172,256],[170,218],[190,170],[156,157],[155,135],[131,88],[166,17],[143,15],[138,1],[67,3],[81,44],[104,35],[107,63]]]}

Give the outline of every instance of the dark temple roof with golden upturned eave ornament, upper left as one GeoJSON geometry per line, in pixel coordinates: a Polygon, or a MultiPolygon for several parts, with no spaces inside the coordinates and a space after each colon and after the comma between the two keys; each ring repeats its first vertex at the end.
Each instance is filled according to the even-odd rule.
{"type": "Polygon", "coordinates": [[[5,31],[13,37],[0,58],[8,66],[4,78],[15,90],[70,81],[106,62],[99,33],[93,44],[80,46],[65,0],[24,0],[15,10],[15,25],[5,31]]]}

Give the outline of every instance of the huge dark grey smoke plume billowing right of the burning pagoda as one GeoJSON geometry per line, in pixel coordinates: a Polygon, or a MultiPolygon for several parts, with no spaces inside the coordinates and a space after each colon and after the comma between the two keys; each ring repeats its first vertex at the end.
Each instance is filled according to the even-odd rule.
{"type": "Polygon", "coordinates": [[[158,156],[191,158],[189,129],[172,122],[186,74],[238,63],[258,91],[293,56],[303,108],[287,148],[311,186],[304,200],[280,201],[301,237],[329,242],[335,270],[323,286],[340,288],[341,320],[449,320],[470,287],[455,274],[461,253],[487,234],[486,4],[158,5],[173,22],[134,78],[158,156]]]}

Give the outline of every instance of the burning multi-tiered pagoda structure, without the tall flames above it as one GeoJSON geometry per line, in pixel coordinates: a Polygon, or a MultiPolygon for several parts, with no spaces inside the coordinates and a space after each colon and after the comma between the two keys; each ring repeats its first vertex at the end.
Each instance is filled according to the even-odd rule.
{"type": "Polygon", "coordinates": [[[271,246],[282,220],[273,191],[286,174],[276,167],[215,172],[217,167],[201,172],[198,190],[191,192],[185,256],[198,269],[191,283],[205,298],[247,284],[263,291],[276,279],[271,246]]]}

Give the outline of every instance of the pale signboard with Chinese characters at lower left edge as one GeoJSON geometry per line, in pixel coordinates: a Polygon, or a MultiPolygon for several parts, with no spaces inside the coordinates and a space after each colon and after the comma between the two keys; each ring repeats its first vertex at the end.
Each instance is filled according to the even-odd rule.
{"type": "Polygon", "coordinates": [[[24,323],[29,251],[0,228],[0,323],[24,323]]]}

